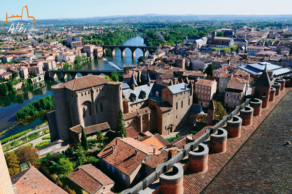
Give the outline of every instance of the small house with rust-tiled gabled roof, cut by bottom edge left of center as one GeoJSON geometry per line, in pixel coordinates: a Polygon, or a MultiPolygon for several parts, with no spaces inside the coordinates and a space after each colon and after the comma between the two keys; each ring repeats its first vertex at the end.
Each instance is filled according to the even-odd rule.
{"type": "MultiPolygon", "coordinates": [[[[92,164],[78,166],[68,178],[83,190],[83,194],[105,194],[113,191],[114,181],[92,164]]],[[[68,190],[70,194],[75,194],[71,189],[68,190]]]]}

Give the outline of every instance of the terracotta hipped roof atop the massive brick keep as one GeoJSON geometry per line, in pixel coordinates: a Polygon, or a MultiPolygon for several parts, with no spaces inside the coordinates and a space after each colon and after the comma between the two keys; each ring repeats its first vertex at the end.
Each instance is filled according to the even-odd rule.
{"type": "Polygon", "coordinates": [[[69,82],[60,83],[52,86],[51,88],[68,88],[72,91],[76,91],[84,88],[91,88],[98,85],[107,84],[108,80],[96,75],[87,75],[84,77],[77,77],[69,82]]]}

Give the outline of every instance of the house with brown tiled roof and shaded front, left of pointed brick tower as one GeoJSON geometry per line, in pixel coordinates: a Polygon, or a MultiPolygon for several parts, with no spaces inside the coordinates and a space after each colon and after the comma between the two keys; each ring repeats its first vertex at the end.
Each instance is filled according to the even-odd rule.
{"type": "Polygon", "coordinates": [[[236,108],[245,100],[246,83],[229,82],[224,97],[224,106],[236,108]]]}

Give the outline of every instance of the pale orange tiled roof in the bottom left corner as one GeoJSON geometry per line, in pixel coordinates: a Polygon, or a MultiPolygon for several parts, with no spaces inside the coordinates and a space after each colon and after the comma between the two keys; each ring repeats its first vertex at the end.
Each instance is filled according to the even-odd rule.
{"type": "Polygon", "coordinates": [[[34,166],[10,177],[15,194],[68,194],[34,166]]]}

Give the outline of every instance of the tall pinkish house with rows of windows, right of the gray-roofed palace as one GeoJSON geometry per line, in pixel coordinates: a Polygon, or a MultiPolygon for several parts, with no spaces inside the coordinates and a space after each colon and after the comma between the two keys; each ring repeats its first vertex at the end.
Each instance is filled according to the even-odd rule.
{"type": "Polygon", "coordinates": [[[216,93],[217,82],[214,80],[199,79],[195,83],[195,94],[197,95],[198,104],[202,107],[209,105],[210,99],[216,93]]]}

